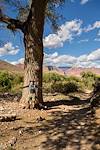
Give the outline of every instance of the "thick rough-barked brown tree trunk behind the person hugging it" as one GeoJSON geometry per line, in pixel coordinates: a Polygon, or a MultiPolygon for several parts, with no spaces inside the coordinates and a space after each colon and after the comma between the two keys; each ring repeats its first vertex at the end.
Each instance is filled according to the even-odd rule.
{"type": "MultiPolygon", "coordinates": [[[[29,85],[29,81],[37,83],[38,91],[35,106],[43,103],[42,96],[42,65],[43,65],[43,27],[45,19],[46,0],[33,0],[28,19],[25,23],[24,43],[25,43],[25,76],[24,86],[29,85]]],[[[28,106],[29,88],[23,89],[21,104],[28,106]]],[[[34,95],[33,95],[34,97],[34,95]]]]}

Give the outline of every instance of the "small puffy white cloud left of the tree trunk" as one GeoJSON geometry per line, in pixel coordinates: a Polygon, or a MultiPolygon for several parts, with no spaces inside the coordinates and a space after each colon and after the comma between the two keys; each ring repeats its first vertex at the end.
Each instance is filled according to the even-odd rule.
{"type": "Polygon", "coordinates": [[[0,56],[3,55],[16,55],[19,52],[18,46],[13,46],[12,43],[8,42],[3,47],[0,47],[0,56]]]}

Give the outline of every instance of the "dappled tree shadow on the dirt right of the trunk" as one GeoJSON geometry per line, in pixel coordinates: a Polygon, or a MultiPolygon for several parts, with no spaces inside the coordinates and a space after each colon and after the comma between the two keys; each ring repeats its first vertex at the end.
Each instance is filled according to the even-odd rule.
{"type": "MultiPolygon", "coordinates": [[[[64,105],[81,105],[88,101],[80,100],[48,102],[53,107],[64,105]]],[[[96,124],[95,117],[91,115],[90,108],[86,105],[76,110],[64,112],[52,111],[51,120],[46,120],[37,126],[45,139],[41,143],[43,150],[99,150],[100,126],[96,124]]]]}

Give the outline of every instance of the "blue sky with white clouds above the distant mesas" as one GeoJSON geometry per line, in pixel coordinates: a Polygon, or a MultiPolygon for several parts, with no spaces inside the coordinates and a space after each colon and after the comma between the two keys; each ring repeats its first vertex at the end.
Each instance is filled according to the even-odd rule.
{"type": "MultiPolygon", "coordinates": [[[[100,68],[100,0],[65,0],[57,9],[63,15],[59,30],[45,23],[44,65],[100,68]]],[[[1,28],[0,35],[0,59],[23,63],[21,32],[1,28]]]]}

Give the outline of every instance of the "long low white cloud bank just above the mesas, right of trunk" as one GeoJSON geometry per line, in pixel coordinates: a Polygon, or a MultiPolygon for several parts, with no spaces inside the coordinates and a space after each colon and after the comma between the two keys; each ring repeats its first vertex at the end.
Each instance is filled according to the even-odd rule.
{"type": "Polygon", "coordinates": [[[44,58],[44,65],[100,68],[100,49],[79,57],[74,57],[71,55],[58,55],[57,52],[49,55],[46,54],[44,58]]]}

